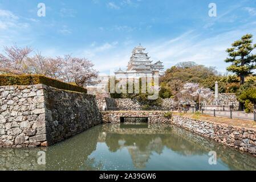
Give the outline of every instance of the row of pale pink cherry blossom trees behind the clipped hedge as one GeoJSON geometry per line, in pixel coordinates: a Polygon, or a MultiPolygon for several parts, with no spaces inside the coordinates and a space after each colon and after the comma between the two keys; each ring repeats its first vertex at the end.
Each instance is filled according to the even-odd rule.
{"type": "Polygon", "coordinates": [[[0,53],[0,73],[44,75],[79,86],[97,83],[98,72],[86,58],[44,57],[40,52],[30,56],[31,52],[29,47],[5,47],[5,55],[0,53]]]}

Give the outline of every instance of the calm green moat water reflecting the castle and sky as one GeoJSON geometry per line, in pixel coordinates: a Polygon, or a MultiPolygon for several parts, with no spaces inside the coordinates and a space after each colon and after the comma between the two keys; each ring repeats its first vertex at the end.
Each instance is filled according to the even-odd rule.
{"type": "Polygon", "coordinates": [[[256,158],[170,125],[95,126],[48,148],[0,148],[1,170],[255,170],[256,158]],[[38,164],[44,151],[46,164],[38,164]],[[217,164],[210,165],[210,151],[217,164]]]}

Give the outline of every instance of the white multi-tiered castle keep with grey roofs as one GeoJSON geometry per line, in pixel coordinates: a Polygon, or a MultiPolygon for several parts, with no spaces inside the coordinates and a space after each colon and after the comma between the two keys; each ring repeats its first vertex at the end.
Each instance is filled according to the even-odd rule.
{"type": "Polygon", "coordinates": [[[135,47],[132,50],[132,56],[128,63],[128,68],[126,71],[119,69],[115,72],[116,78],[128,78],[128,77],[143,77],[147,75],[161,75],[164,65],[161,61],[157,61],[152,64],[152,61],[149,60],[150,57],[148,53],[145,53],[146,48],[140,46],[135,47]]]}

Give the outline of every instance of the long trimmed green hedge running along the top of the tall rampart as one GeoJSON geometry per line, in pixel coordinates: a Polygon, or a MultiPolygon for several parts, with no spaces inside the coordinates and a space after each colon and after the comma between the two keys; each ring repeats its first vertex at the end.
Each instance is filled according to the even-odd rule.
{"type": "Polygon", "coordinates": [[[87,93],[87,89],[42,75],[0,75],[0,86],[44,84],[54,88],[87,93]]]}

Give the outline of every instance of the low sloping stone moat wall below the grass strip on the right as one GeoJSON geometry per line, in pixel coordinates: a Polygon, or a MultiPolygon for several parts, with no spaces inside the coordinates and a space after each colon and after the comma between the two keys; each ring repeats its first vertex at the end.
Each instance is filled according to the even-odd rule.
{"type": "Polygon", "coordinates": [[[256,155],[256,130],[173,115],[174,125],[256,155]]]}

